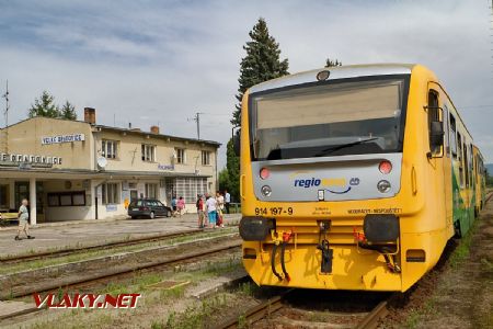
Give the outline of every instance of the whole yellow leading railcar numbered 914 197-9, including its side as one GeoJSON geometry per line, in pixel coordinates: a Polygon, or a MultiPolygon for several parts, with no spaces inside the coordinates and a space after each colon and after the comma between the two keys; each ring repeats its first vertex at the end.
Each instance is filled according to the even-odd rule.
{"type": "Polygon", "coordinates": [[[290,75],[242,104],[240,235],[259,285],[406,291],[471,226],[472,137],[424,66],[290,75]]]}

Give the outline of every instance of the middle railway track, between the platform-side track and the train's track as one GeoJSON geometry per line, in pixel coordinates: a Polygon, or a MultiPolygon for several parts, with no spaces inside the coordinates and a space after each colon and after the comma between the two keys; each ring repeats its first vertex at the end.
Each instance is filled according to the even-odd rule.
{"type": "MultiPolygon", "coordinates": [[[[230,235],[230,236],[233,236],[233,235],[230,235]]],[[[193,247],[193,245],[194,245],[194,242],[191,242],[190,247],[193,247]]],[[[127,269],[118,269],[116,271],[110,270],[107,272],[99,273],[99,274],[95,274],[95,275],[92,275],[89,277],[84,277],[84,279],[81,279],[78,281],[72,281],[70,283],[60,284],[58,282],[54,282],[49,285],[42,285],[42,286],[33,287],[28,291],[23,291],[20,293],[11,293],[10,297],[14,298],[13,300],[15,300],[18,298],[30,296],[33,293],[55,292],[55,291],[59,290],[60,287],[62,287],[65,291],[70,291],[70,290],[76,291],[81,287],[87,290],[91,286],[105,285],[111,282],[113,283],[115,280],[123,280],[125,277],[131,277],[133,275],[136,275],[136,273],[139,273],[141,271],[152,271],[152,270],[158,270],[158,269],[170,266],[170,265],[187,263],[191,261],[200,260],[202,258],[205,258],[205,257],[210,257],[210,256],[214,256],[217,253],[222,253],[228,250],[239,249],[240,247],[241,247],[240,239],[233,239],[233,240],[226,241],[226,242],[217,242],[217,243],[213,243],[213,246],[207,249],[197,248],[197,250],[193,250],[191,252],[185,252],[183,254],[176,254],[176,256],[165,258],[162,260],[157,260],[151,263],[138,264],[136,266],[131,266],[131,268],[127,268],[127,269]]],[[[9,320],[15,319],[20,316],[38,313],[41,310],[43,310],[43,308],[39,309],[36,307],[32,307],[32,308],[23,309],[20,313],[14,313],[11,315],[3,315],[3,316],[0,315],[0,327],[2,326],[2,321],[9,321],[9,320]]]]}

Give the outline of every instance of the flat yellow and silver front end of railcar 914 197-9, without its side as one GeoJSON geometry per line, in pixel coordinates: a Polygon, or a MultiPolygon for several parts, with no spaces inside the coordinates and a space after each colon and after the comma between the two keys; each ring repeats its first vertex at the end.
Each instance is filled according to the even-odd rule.
{"type": "MultiPolygon", "coordinates": [[[[411,70],[322,69],[245,94],[240,235],[259,285],[403,291],[426,271],[403,282],[401,223],[415,216],[412,173],[402,179],[411,70]]],[[[405,257],[420,261],[420,250],[405,257]]]]}

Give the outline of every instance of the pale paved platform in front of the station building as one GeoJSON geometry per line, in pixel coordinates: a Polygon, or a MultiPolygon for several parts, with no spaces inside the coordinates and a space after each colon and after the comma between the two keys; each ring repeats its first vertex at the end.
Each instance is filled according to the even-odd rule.
{"type": "MultiPolygon", "coordinates": [[[[240,214],[225,215],[225,223],[237,223],[240,218],[240,214]]],[[[31,235],[35,239],[24,238],[21,241],[14,240],[16,227],[8,227],[0,229],[0,257],[42,252],[55,248],[102,245],[196,228],[197,216],[195,214],[156,219],[88,219],[38,224],[31,228],[31,235]]]]}

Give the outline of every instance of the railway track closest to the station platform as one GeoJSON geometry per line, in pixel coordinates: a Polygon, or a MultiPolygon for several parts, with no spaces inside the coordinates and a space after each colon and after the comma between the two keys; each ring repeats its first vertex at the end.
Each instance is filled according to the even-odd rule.
{"type": "Polygon", "coordinates": [[[88,251],[100,251],[100,250],[107,250],[107,249],[117,248],[117,247],[128,247],[128,246],[135,246],[135,245],[144,245],[144,243],[148,243],[148,242],[164,241],[164,240],[170,240],[170,239],[180,238],[180,237],[198,235],[203,231],[204,231],[204,229],[193,229],[193,230],[177,231],[177,232],[171,232],[171,234],[164,234],[164,235],[154,235],[151,237],[142,237],[142,238],[136,238],[136,239],[129,239],[129,240],[106,242],[106,243],[102,243],[102,245],[73,247],[73,248],[65,248],[65,249],[60,249],[60,250],[50,250],[50,251],[36,252],[36,253],[26,253],[26,254],[19,254],[19,256],[12,256],[12,257],[3,257],[3,258],[0,258],[0,264],[10,265],[10,264],[26,262],[26,261],[34,261],[34,260],[41,260],[41,259],[53,259],[53,258],[59,258],[59,257],[69,256],[69,254],[71,256],[71,254],[77,254],[77,253],[84,253],[88,251]]]}

